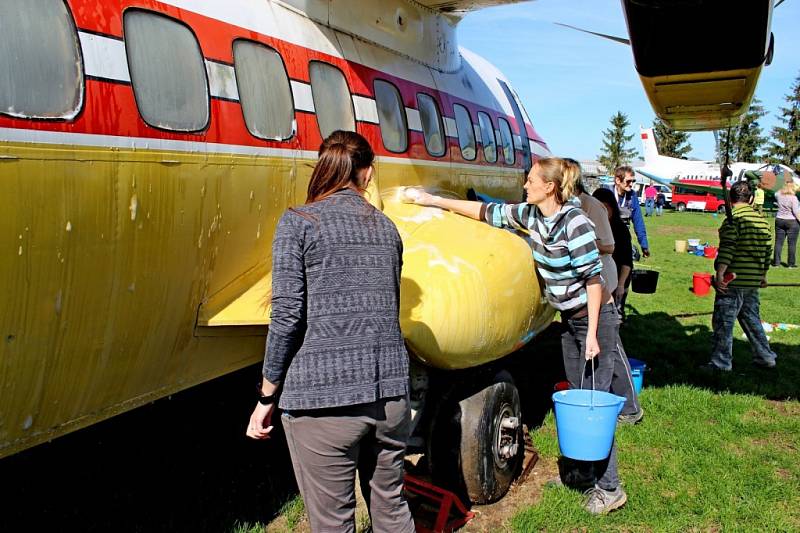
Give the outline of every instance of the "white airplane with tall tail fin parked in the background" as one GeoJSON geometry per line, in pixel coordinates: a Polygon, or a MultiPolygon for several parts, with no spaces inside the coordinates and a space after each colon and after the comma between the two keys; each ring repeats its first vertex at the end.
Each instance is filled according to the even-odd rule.
{"type": "MultiPolygon", "coordinates": [[[[636,172],[658,183],[697,187],[698,190],[719,189],[720,165],[716,161],[691,161],[677,157],[668,157],[658,153],[655,135],[652,128],[640,128],[642,147],[644,149],[644,166],[636,168],[636,172]]],[[[732,181],[744,177],[745,172],[754,171],[763,174],[771,173],[773,179],[762,175],[762,182],[770,190],[777,190],[783,185],[783,179],[791,178],[800,183],[791,168],[786,165],[770,165],[767,163],[730,163],[733,172],[732,181]],[[783,179],[779,179],[780,177],[783,179]]]]}

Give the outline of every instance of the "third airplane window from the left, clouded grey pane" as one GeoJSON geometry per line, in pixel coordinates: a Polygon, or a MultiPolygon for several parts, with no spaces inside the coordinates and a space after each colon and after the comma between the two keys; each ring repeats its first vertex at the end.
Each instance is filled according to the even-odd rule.
{"type": "Polygon", "coordinates": [[[233,58],[247,129],[261,139],[290,138],[294,102],[280,54],[263,44],[240,39],[233,43],[233,58]]]}

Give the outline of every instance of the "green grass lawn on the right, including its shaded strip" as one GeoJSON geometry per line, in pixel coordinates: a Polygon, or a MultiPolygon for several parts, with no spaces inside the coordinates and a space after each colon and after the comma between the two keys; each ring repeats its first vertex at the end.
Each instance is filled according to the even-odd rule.
{"type": "MultiPolygon", "coordinates": [[[[673,251],[676,239],[715,244],[721,217],[671,213],[648,218],[654,295],[632,294],[622,330],[631,357],[647,362],[644,422],[617,431],[628,504],[604,517],[582,510],[581,495],[547,488],[511,521],[515,531],[800,531],[800,331],[770,334],[774,371],[750,365],[737,326],[733,372],[708,375],[713,294],[689,292],[692,273],[712,261],[673,251]]],[[[798,270],[771,270],[772,282],[800,282],[798,270]]],[[[800,324],[800,288],[761,292],[762,318],[800,324]]],[[[558,457],[552,414],[533,432],[545,458],[558,457]]]]}

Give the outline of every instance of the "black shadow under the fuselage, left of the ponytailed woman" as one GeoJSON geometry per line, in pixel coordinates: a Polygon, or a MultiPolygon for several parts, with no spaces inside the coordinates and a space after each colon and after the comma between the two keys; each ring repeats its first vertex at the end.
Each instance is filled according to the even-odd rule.
{"type": "Polygon", "coordinates": [[[260,365],[0,460],[0,531],[230,531],[297,488],[282,428],[244,436],[260,365]]]}

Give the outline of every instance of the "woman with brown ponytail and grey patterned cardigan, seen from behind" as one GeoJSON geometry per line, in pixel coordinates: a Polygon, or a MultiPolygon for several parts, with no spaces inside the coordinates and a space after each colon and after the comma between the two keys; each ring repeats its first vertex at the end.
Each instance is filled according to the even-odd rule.
{"type": "Polygon", "coordinates": [[[355,530],[356,470],[373,530],[414,531],[402,493],[410,431],[398,317],[403,245],[364,198],[373,159],[357,133],[325,139],[306,204],[284,213],[272,246],[272,322],[247,435],[269,438],[278,403],[315,532],[355,530]]]}

